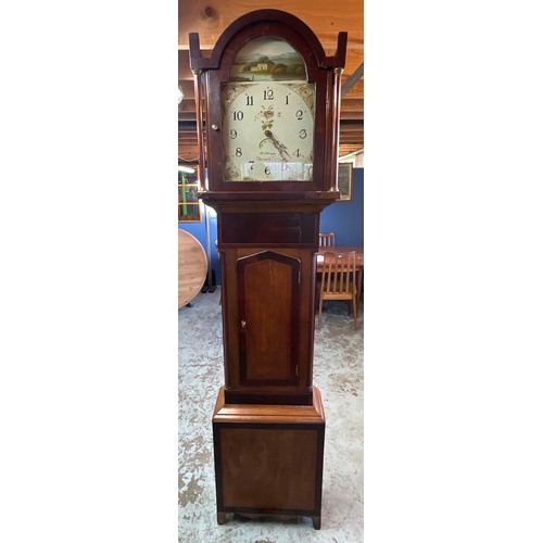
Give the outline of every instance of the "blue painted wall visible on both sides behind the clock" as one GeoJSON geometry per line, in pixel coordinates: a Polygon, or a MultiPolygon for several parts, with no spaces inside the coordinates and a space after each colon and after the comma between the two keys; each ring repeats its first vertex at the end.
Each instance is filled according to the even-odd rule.
{"type": "MultiPolygon", "coordinates": [[[[220,285],[220,266],[215,249],[217,216],[211,207],[206,211],[210,214],[211,265],[217,285],[220,285]]],[[[205,250],[205,217],[201,223],[179,223],[179,228],[192,233],[205,250]]],[[[320,231],[336,232],[337,245],[364,245],[364,168],[353,169],[352,201],[331,204],[320,214],[320,231]]]]}

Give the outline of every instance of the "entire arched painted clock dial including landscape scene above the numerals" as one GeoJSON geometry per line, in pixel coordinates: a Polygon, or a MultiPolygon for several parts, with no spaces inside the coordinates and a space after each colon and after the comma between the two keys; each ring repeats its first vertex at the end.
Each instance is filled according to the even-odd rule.
{"type": "Polygon", "coordinates": [[[311,181],[315,86],[290,45],[260,38],[220,88],[225,180],[311,181]]]}

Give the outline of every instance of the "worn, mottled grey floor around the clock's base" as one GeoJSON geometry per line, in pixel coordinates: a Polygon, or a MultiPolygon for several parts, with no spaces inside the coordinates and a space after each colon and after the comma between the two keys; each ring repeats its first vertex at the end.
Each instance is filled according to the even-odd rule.
{"type": "Polygon", "coordinates": [[[315,330],[313,382],[326,415],[321,529],[305,517],[216,523],[211,417],[224,384],[220,290],[179,310],[179,542],[363,542],[364,315],[327,302],[315,330]]]}

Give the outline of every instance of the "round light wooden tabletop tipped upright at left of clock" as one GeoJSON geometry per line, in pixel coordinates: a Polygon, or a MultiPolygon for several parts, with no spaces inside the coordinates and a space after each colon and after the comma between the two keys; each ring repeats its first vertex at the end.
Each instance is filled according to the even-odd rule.
{"type": "Polygon", "coordinates": [[[200,292],[207,275],[205,251],[194,236],[178,230],[178,307],[190,303],[200,292]]]}

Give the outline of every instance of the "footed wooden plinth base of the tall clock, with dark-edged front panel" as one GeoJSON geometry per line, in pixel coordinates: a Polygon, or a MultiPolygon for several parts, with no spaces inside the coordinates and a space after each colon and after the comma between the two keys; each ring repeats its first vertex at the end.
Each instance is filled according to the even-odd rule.
{"type": "Polygon", "coordinates": [[[227,513],[304,516],[320,528],[325,416],[312,405],[225,404],[213,413],[217,521],[227,513]]]}

